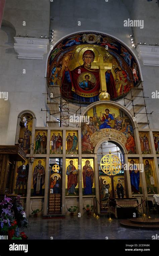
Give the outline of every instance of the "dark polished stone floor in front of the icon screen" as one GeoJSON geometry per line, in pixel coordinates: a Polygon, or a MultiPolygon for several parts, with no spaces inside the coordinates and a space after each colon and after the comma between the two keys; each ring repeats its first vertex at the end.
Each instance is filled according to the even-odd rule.
{"type": "Polygon", "coordinates": [[[93,216],[66,216],[65,219],[50,220],[38,217],[30,218],[29,227],[23,231],[28,239],[152,239],[152,235],[159,234],[159,230],[124,228],[120,221],[93,216]]]}

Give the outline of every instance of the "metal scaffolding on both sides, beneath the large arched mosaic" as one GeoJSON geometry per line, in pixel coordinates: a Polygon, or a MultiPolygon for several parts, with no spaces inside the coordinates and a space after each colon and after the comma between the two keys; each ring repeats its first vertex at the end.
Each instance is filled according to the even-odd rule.
{"type": "MultiPolygon", "coordinates": [[[[58,78],[54,78],[53,81],[55,84],[47,84],[46,110],[41,109],[42,111],[47,112],[46,126],[48,125],[50,127],[77,127],[78,123],[70,122],[70,117],[81,116],[81,113],[86,105],[82,104],[81,106],[81,102],[68,99],[68,84],[62,84],[61,86],[58,78]],[[64,90],[63,86],[65,88],[64,90]],[[71,101],[73,102],[73,106],[71,101]]],[[[145,128],[145,126],[148,126],[150,128],[148,115],[151,115],[153,111],[151,113],[147,112],[145,102],[145,98],[149,97],[146,97],[144,95],[142,81],[139,82],[137,86],[138,87],[130,88],[129,93],[126,95],[126,97],[123,97],[123,99],[121,99],[120,104],[124,105],[124,107],[126,107],[130,111],[130,113],[134,116],[134,121],[137,121],[140,128],[145,128]]]]}

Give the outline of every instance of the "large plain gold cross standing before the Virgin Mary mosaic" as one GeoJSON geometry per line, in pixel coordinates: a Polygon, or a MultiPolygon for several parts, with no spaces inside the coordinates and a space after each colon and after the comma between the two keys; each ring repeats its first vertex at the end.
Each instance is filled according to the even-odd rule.
{"type": "Polygon", "coordinates": [[[112,69],[111,63],[105,63],[103,61],[103,56],[100,54],[98,57],[98,62],[92,62],[91,63],[91,69],[99,69],[99,75],[100,75],[100,86],[101,91],[106,92],[107,91],[107,85],[106,85],[106,79],[105,79],[105,71],[108,69],[112,69]]]}

